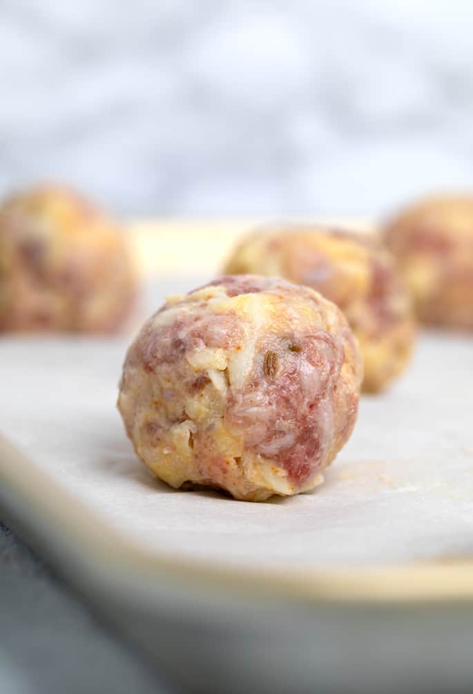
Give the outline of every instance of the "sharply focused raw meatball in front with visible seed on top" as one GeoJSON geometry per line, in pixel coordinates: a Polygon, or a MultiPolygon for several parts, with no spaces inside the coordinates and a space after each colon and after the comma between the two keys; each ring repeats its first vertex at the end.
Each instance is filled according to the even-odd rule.
{"type": "Polygon", "coordinates": [[[137,455],[171,486],[264,500],[320,484],[352,432],[361,378],[333,303],[279,278],[224,277],[144,324],[118,407],[137,455]]]}

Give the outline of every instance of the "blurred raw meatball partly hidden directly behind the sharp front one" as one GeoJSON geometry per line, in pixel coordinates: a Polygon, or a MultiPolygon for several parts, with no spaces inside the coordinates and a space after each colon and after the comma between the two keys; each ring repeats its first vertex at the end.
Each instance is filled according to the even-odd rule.
{"type": "Polygon", "coordinates": [[[341,308],[364,360],[363,390],[386,388],[408,362],[415,325],[390,253],[374,235],[321,226],[270,226],[244,238],[227,273],[279,275],[341,308]]]}

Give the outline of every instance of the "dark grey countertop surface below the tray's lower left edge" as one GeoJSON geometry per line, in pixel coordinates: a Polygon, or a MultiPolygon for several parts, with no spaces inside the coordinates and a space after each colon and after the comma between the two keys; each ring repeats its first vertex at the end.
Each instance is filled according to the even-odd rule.
{"type": "Polygon", "coordinates": [[[0,691],[171,690],[0,522],[0,691]]]}

